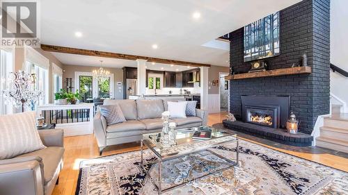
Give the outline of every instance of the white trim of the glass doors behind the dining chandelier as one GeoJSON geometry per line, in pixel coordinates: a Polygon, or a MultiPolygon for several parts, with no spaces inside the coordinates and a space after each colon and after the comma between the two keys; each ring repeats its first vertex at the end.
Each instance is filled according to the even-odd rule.
{"type": "MultiPolygon", "coordinates": [[[[75,71],[74,77],[75,77],[75,87],[74,87],[74,92],[76,92],[76,90],[79,89],[80,86],[80,80],[79,77],[80,76],[92,76],[93,77],[93,81],[92,81],[92,85],[93,86],[97,86],[98,85],[98,79],[96,76],[93,75],[92,72],[86,72],[86,71],[75,71]]],[[[113,74],[109,74],[110,77],[110,99],[113,98],[113,74]]],[[[97,87],[93,87],[93,99],[96,99],[98,97],[98,89],[97,87]]]]}

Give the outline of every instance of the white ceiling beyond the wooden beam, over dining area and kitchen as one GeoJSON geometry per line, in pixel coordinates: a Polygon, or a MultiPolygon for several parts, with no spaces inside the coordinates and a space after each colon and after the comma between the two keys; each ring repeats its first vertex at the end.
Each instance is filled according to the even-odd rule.
{"type": "MultiPolygon", "coordinates": [[[[81,56],[67,53],[55,53],[52,52],[56,58],[61,60],[65,65],[82,65],[87,67],[100,67],[100,60],[103,60],[102,67],[104,68],[122,68],[122,67],[136,67],[136,61],[134,60],[121,60],[115,58],[101,58],[94,56],[81,56]]],[[[161,63],[152,64],[147,62],[147,69],[158,71],[185,71],[189,69],[196,69],[196,67],[187,67],[179,65],[166,65],[161,63]],[[163,68],[163,69],[162,69],[163,68]]]]}

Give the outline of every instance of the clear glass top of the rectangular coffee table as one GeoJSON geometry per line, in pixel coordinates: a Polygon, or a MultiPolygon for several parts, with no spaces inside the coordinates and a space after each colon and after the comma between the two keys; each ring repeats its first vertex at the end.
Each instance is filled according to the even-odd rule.
{"type": "Polygon", "coordinates": [[[143,143],[158,157],[187,154],[237,140],[237,135],[211,127],[177,129],[173,144],[161,144],[161,133],[143,134],[143,143]]]}

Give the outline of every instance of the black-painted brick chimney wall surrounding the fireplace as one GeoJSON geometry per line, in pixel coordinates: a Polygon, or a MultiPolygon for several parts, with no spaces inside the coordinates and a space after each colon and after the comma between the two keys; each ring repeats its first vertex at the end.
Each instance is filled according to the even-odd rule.
{"type": "MultiPolygon", "coordinates": [[[[243,32],[230,33],[230,66],[247,72],[243,32]]],[[[303,0],[280,11],[280,56],[267,58],[269,69],[291,67],[307,53],[312,74],[230,81],[230,112],[242,115],[242,95],[290,96],[290,110],[299,118],[299,130],[312,133],[319,115],[330,106],[330,0],[303,0]]]]}

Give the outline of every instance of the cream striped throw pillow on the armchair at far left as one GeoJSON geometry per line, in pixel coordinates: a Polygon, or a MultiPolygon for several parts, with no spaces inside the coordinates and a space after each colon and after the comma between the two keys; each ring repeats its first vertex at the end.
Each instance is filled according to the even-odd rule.
{"type": "Polygon", "coordinates": [[[0,116],[0,160],[44,149],[35,125],[35,112],[0,116]]]}

